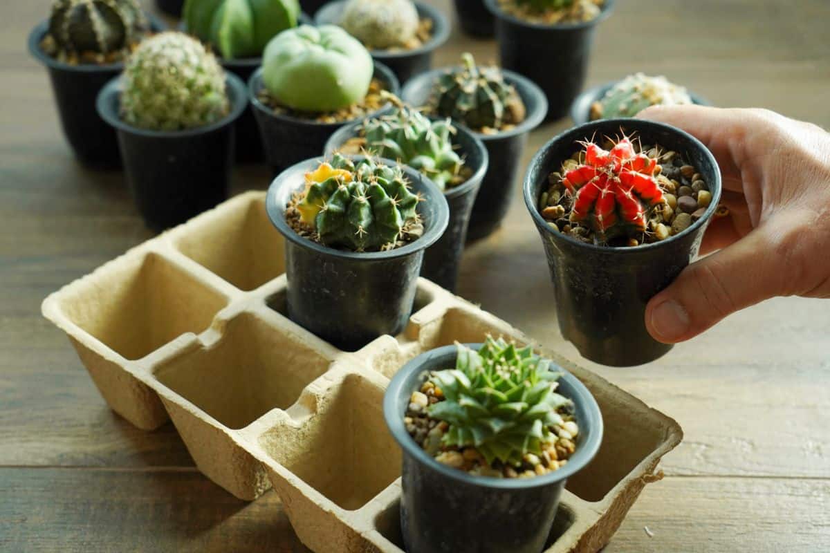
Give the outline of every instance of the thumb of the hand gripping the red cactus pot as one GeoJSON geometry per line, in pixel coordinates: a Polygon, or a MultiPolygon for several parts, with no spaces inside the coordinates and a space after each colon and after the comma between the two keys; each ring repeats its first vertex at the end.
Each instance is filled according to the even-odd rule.
{"type": "Polygon", "coordinates": [[[646,328],[658,342],[683,342],[731,313],[784,293],[776,246],[780,236],[762,225],[741,240],[690,264],[646,307],[646,328]]]}

